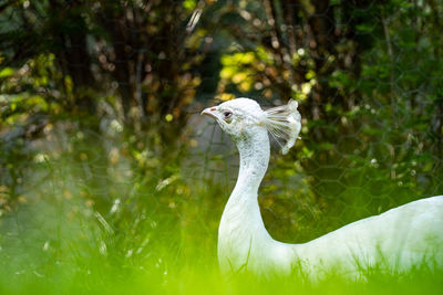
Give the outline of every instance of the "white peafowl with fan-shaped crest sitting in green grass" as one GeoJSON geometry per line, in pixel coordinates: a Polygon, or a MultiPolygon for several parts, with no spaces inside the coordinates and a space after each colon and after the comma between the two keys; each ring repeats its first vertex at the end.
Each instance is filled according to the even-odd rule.
{"type": "Polygon", "coordinates": [[[312,241],[276,241],[265,228],[258,189],[268,168],[269,135],[281,152],[296,144],[301,129],[298,103],[261,109],[240,97],[205,108],[239,152],[239,171],[218,228],[217,256],[223,274],[290,275],[312,280],[328,273],[354,280],[365,271],[408,272],[419,265],[443,267],[443,196],[430,197],[369,217],[312,241]]]}

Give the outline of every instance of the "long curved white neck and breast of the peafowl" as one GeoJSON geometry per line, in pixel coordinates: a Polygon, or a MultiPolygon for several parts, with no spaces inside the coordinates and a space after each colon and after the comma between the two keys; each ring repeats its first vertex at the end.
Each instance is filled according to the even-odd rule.
{"type": "MultiPolygon", "coordinates": [[[[254,129],[253,129],[254,130],[254,129]]],[[[249,137],[237,138],[240,169],[218,228],[218,261],[224,273],[269,267],[290,272],[293,250],[275,241],[265,228],[258,188],[269,162],[269,138],[259,126],[249,137]]]]}

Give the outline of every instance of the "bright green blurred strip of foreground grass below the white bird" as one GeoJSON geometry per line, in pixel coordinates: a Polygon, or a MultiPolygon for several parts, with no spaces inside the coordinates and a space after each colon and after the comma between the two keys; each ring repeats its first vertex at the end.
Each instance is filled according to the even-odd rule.
{"type": "Polygon", "coordinates": [[[365,282],[330,276],[310,283],[301,277],[260,281],[249,275],[222,277],[214,265],[158,270],[95,268],[79,272],[63,265],[54,273],[2,275],[1,294],[442,294],[442,273],[414,271],[402,276],[372,274],[365,282]],[[126,272],[126,273],[125,273],[126,272]],[[124,274],[125,273],[125,274],[124,274]],[[6,280],[9,277],[9,280],[6,280]]]}

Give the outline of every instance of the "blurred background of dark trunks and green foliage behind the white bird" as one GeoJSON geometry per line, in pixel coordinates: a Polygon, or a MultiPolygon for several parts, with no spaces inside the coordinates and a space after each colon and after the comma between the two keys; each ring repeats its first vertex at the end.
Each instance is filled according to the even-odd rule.
{"type": "Polygon", "coordinates": [[[199,113],[234,97],[300,105],[277,240],[442,193],[442,32],[436,0],[0,1],[1,283],[216,265],[238,156],[199,113]]]}

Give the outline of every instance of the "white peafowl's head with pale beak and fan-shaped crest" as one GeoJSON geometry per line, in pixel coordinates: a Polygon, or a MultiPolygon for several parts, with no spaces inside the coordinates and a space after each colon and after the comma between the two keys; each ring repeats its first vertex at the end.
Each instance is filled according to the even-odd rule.
{"type": "Polygon", "coordinates": [[[236,98],[202,112],[215,118],[222,129],[234,140],[249,137],[257,129],[268,130],[287,154],[296,144],[301,128],[301,117],[297,110],[298,103],[289,101],[287,105],[262,110],[256,101],[236,98]]]}

